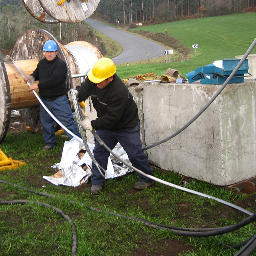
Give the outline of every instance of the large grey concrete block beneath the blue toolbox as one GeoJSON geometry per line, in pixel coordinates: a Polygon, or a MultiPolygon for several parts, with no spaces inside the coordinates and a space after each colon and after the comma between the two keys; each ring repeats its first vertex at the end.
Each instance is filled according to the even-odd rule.
{"type": "MultiPolygon", "coordinates": [[[[183,127],[221,86],[158,84],[143,87],[145,142],[183,127]]],[[[153,164],[185,176],[230,185],[256,176],[256,83],[229,84],[183,132],[147,150],[153,164]]]]}

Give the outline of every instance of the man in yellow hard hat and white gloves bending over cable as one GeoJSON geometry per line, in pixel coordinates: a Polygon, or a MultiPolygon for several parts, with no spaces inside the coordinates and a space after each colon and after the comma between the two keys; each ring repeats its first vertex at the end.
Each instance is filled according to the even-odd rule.
{"type": "MultiPolygon", "coordinates": [[[[116,75],[116,66],[110,58],[98,59],[85,82],[75,90],[79,101],[91,96],[97,118],[90,120],[85,117],[82,126],[86,130],[95,129],[104,143],[113,149],[119,142],[126,151],[132,165],[146,174],[154,176],[140,140],[140,124],[138,108],[126,85],[116,75]]],[[[71,93],[68,93],[72,100],[71,93]]],[[[107,169],[109,152],[95,141],[93,150],[96,161],[107,169]]],[[[105,184],[95,164],[92,164],[91,193],[97,195],[105,184]]],[[[139,181],[134,189],[143,189],[154,184],[154,180],[137,173],[139,181]]]]}

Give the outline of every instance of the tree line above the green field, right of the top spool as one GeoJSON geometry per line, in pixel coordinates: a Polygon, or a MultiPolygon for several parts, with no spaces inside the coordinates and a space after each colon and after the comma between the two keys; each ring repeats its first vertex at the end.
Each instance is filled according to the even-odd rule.
{"type": "Polygon", "coordinates": [[[168,22],[256,11],[256,0],[100,0],[95,11],[110,22],[168,22]]]}

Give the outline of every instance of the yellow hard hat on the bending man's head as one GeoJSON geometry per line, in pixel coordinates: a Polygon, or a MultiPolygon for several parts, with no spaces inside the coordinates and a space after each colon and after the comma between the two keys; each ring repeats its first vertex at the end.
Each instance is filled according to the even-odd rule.
{"type": "Polygon", "coordinates": [[[112,77],[116,73],[116,65],[110,58],[100,58],[94,65],[88,78],[95,84],[99,84],[107,78],[112,77]]]}

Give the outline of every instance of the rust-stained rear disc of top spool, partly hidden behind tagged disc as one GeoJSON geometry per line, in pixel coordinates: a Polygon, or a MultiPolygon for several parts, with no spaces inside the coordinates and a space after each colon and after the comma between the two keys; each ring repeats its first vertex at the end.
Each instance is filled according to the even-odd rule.
{"type": "Polygon", "coordinates": [[[38,0],[22,0],[22,3],[24,4],[26,10],[37,20],[52,24],[60,22],[45,12],[38,0]]]}

